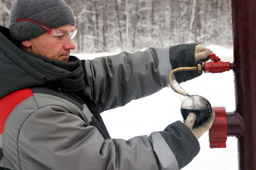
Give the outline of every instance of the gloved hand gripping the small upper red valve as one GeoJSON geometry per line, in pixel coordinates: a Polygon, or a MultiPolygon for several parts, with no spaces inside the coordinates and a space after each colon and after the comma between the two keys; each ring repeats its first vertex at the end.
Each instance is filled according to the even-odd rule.
{"type": "Polygon", "coordinates": [[[196,62],[198,61],[206,62],[207,60],[210,59],[209,57],[210,53],[213,53],[213,52],[209,48],[205,48],[202,45],[196,45],[196,48],[195,48],[196,62]]]}

